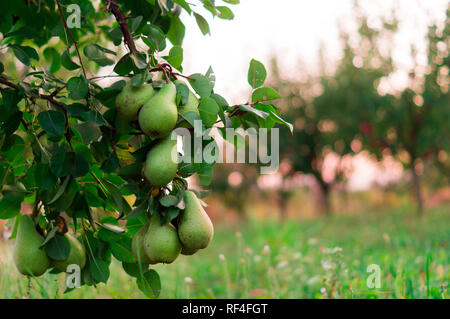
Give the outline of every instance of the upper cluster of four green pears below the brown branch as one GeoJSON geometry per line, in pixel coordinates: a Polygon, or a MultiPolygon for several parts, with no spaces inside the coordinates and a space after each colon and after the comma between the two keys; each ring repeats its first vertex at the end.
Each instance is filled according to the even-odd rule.
{"type": "Polygon", "coordinates": [[[177,123],[179,127],[190,126],[185,120],[178,121],[178,113],[199,114],[199,101],[190,90],[186,103],[177,107],[176,84],[184,82],[169,82],[158,91],[151,84],[139,87],[127,84],[116,97],[118,115],[128,121],[137,120],[141,130],[157,140],[143,168],[143,176],[155,188],[170,183],[178,170],[176,140],[172,140],[170,134],[177,123]]]}

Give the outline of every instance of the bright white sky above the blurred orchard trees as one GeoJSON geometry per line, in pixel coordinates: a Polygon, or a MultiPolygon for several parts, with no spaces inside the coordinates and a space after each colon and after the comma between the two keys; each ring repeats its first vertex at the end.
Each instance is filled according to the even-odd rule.
{"type": "MultiPolygon", "coordinates": [[[[216,5],[219,5],[219,0],[216,5]]],[[[397,8],[401,19],[394,58],[407,67],[410,43],[423,48],[426,25],[433,19],[443,21],[447,0],[359,1],[369,16],[389,15],[397,8]]],[[[252,58],[269,67],[271,56],[279,58],[281,72],[294,76],[301,59],[311,70],[317,63],[317,52],[325,44],[327,55],[339,56],[338,21],[352,28],[353,0],[241,0],[231,6],[235,19],[211,18],[209,12],[197,9],[210,22],[211,36],[203,36],[195,19],[183,13],[186,24],[184,40],[184,74],[205,73],[211,65],[216,74],[216,92],[231,103],[248,99],[247,69],[252,58]]],[[[370,22],[370,21],[369,21],[370,22]]],[[[402,81],[401,75],[396,79],[402,81]]]]}

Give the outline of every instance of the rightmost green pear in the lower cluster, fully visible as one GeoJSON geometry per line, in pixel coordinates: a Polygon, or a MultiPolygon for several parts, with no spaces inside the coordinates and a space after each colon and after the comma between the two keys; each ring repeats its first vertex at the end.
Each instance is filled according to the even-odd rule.
{"type": "Polygon", "coordinates": [[[202,249],[214,235],[214,227],[197,196],[191,191],[184,195],[185,208],[178,223],[178,236],[186,248],[202,249]]]}

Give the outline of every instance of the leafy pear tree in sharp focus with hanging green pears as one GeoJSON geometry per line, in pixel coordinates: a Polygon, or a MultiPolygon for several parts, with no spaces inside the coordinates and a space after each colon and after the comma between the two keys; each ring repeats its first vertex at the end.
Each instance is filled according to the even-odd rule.
{"type": "Polygon", "coordinates": [[[186,178],[207,187],[215,161],[178,163],[172,132],[192,132],[196,121],[200,136],[215,125],[286,124],[262,103],[274,91],[262,87],[266,70],[256,60],[247,75],[252,98],[240,105],[214,91],[211,68],[183,75],[181,11],[206,35],[197,9],[232,19],[228,5],[239,1],[223,2],[2,1],[0,219],[14,225],[22,274],[72,267],[82,285],[95,286],[108,281],[114,257],[156,297],[160,278],[149,265],[209,244],[203,192],[186,178]],[[100,85],[106,78],[112,84],[100,85]],[[23,202],[31,215],[21,214],[23,202]]]}

